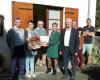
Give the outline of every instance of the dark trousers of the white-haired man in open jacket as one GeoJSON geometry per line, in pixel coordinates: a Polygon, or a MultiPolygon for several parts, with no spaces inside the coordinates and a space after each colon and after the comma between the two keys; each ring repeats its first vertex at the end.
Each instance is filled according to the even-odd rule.
{"type": "Polygon", "coordinates": [[[71,77],[73,77],[73,80],[76,80],[76,57],[75,55],[71,55],[69,47],[64,47],[63,49],[63,60],[65,75],[68,76],[68,63],[71,61],[71,77]]]}

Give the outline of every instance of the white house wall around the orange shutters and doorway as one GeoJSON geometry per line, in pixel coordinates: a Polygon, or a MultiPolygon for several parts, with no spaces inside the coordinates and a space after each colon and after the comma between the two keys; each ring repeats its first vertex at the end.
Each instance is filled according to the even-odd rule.
{"type": "MultiPolygon", "coordinates": [[[[88,15],[88,0],[0,0],[0,14],[5,17],[5,34],[3,37],[0,37],[0,53],[5,56],[6,65],[9,62],[10,51],[6,45],[6,32],[12,27],[12,10],[11,10],[11,1],[21,1],[35,4],[44,4],[44,5],[53,5],[61,7],[72,7],[79,9],[79,18],[78,25],[86,25],[86,19],[88,15]],[[8,58],[7,58],[8,57],[8,58]]],[[[95,25],[95,8],[96,0],[91,0],[90,6],[90,18],[92,19],[93,25],[95,25]]],[[[10,65],[9,65],[10,66],[10,65]]],[[[8,66],[7,66],[8,67],[8,66]]]]}

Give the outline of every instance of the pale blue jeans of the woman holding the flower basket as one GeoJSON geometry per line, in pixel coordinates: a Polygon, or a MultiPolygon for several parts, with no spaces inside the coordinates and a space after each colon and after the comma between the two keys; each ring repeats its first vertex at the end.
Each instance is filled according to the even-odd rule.
{"type": "Polygon", "coordinates": [[[26,73],[34,73],[34,51],[28,50],[26,54],[26,73]]]}

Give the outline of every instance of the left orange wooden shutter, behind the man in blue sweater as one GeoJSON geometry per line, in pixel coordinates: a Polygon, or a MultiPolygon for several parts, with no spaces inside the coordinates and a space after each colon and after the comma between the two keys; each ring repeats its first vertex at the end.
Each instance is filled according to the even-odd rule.
{"type": "Polygon", "coordinates": [[[33,4],[12,2],[12,13],[12,24],[14,24],[14,18],[19,17],[22,21],[21,27],[26,28],[28,20],[33,20],[33,4]]]}

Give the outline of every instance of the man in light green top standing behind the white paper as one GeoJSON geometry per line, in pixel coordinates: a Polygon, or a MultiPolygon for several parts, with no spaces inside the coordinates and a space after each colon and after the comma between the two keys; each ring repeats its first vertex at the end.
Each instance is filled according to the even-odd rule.
{"type": "MultiPolygon", "coordinates": [[[[37,35],[39,35],[39,36],[46,36],[47,32],[46,32],[45,28],[43,28],[43,27],[44,27],[44,22],[42,20],[39,20],[37,22],[37,28],[34,30],[35,33],[37,35]]],[[[38,61],[40,62],[39,66],[43,66],[43,65],[45,65],[45,62],[46,62],[46,47],[42,46],[42,48],[39,51],[40,51],[40,53],[39,53],[38,56],[39,57],[42,56],[42,60],[41,61],[39,61],[39,58],[38,58],[38,61]],[[41,63],[42,63],[42,65],[41,65],[41,63]]]]}

